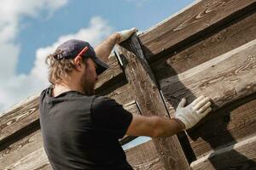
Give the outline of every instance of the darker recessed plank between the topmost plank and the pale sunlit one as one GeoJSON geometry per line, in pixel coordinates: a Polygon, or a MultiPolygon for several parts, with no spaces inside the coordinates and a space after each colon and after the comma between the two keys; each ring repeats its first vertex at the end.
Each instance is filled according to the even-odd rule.
{"type": "Polygon", "coordinates": [[[216,31],[177,54],[167,54],[150,64],[157,80],[172,77],[225,54],[256,38],[256,10],[247,17],[216,31]]]}

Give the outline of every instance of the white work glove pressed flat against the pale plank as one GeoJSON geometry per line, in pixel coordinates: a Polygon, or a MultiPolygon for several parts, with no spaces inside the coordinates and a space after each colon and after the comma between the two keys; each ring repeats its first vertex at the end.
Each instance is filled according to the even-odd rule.
{"type": "Polygon", "coordinates": [[[186,107],[184,107],[185,103],[186,99],[182,99],[177,105],[175,118],[184,123],[186,130],[194,127],[207,113],[212,111],[210,99],[205,96],[200,96],[186,107]]]}

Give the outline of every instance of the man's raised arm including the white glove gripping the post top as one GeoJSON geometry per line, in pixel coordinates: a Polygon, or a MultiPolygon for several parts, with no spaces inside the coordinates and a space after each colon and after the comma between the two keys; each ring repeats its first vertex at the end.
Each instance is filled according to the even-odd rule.
{"type": "Polygon", "coordinates": [[[106,40],[98,44],[95,48],[96,55],[99,56],[104,62],[108,62],[108,56],[113,50],[113,47],[116,43],[123,42],[131,34],[136,32],[136,28],[131,28],[130,30],[119,31],[110,35],[106,40]]]}

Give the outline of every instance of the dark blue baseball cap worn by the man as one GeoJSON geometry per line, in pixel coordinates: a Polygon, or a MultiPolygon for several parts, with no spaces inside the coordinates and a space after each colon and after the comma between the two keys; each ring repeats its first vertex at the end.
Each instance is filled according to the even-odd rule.
{"type": "Polygon", "coordinates": [[[96,63],[96,73],[98,75],[106,71],[109,68],[105,62],[96,56],[94,49],[90,46],[89,42],[84,42],[82,40],[68,40],[62,43],[56,51],[61,51],[60,54],[56,56],[55,59],[74,59],[76,56],[87,57],[92,59],[96,63]]]}

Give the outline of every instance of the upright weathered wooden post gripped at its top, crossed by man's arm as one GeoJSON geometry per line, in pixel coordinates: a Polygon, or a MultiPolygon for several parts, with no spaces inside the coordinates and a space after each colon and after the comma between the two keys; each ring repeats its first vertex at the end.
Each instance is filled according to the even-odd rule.
{"type": "MultiPolygon", "coordinates": [[[[134,90],[142,114],[169,117],[137,35],[132,35],[130,40],[120,45],[119,58],[122,60],[125,76],[134,90]]],[[[166,170],[190,169],[176,135],[153,140],[166,170]]]]}

